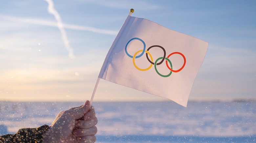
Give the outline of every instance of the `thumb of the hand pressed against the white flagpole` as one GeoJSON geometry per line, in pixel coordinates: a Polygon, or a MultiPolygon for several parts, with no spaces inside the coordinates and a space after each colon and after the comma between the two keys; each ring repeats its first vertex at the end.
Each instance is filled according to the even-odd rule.
{"type": "Polygon", "coordinates": [[[90,102],[86,101],[84,103],[84,105],[82,105],[82,106],[80,106],[78,108],[75,108],[75,109],[67,110],[67,111],[68,111],[69,115],[71,115],[71,117],[73,117],[74,119],[80,119],[89,110],[90,110],[90,102]]]}

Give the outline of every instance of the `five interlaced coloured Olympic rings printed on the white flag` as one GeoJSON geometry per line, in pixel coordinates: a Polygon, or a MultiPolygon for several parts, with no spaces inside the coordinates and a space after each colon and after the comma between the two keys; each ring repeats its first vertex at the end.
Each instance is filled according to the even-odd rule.
{"type": "Polygon", "coordinates": [[[144,42],[143,40],[139,39],[139,38],[132,38],[131,40],[129,40],[129,41],[127,42],[127,44],[125,45],[125,53],[126,53],[127,56],[133,58],[133,65],[134,65],[134,67],[135,67],[137,70],[139,70],[139,71],[147,71],[147,70],[149,70],[149,69],[154,65],[157,74],[160,75],[160,76],[162,76],[162,77],[168,77],[168,76],[170,76],[170,75],[172,74],[172,72],[179,72],[179,71],[181,71],[181,70],[184,68],[185,64],[186,64],[186,58],[185,58],[185,56],[184,56],[182,53],[180,53],[180,52],[173,52],[173,53],[169,54],[167,57],[165,57],[165,56],[166,56],[166,51],[165,51],[165,49],[164,49],[162,46],[154,45],[154,46],[150,46],[150,47],[146,50],[146,44],[145,44],[145,42],[144,42]],[[132,40],[139,40],[139,41],[141,41],[141,42],[143,43],[143,50],[137,51],[137,52],[134,54],[134,56],[131,56],[131,55],[127,52],[127,46],[128,46],[128,44],[129,44],[132,40]],[[161,49],[163,50],[163,56],[160,57],[160,58],[158,58],[155,62],[153,62],[153,57],[152,57],[152,55],[149,53],[149,50],[150,50],[151,48],[153,48],[153,47],[159,47],[159,48],[161,48],[161,49]],[[138,56],[136,56],[139,52],[141,52],[141,54],[138,55],[138,56]],[[139,67],[135,64],[135,58],[141,57],[144,53],[146,53],[146,57],[147,57],[147,60],[150,62],[150,66],[149,66],[148,68],[146,68],[146,69],[141,69],[141,68],[139,68],[139,67]],[[173,70],[172,62],[171,62],[170,59],[169,59],[169,57],[172,56],[172,55],[174,55],[174,54],[179,54],[179,55],[181,55],[181,56],[183,57],[183,60],[184,60],[183,65],[182,65],[181,68],[178,69],[178,70],[173,70]],[[149,59],[148,55],[150,56],[150,59],[149,59]],[[159,61],[160,59],[162,59],[162,60],[158,63],[158,61],[159,61]],[[166,60],[166,61],[165,61],[165,64],[166,64],[167,68],[170,70],[170,73],[167,74],[167,75],[163,75],[163,74],[161,74],[161,73],[157,70],[157,65],[162,64],[164,60],[166,60]],[[170,64],[170,66],[168,65],[168,62],[169,62],[169,64],[170,64]]]}

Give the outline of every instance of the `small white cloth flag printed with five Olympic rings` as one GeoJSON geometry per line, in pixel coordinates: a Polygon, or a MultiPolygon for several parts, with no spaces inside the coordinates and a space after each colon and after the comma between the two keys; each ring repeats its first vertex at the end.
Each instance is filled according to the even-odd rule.
{"type": "Polygon", "coordinates": [[[126,18],[98,78],[187,106],[208,43],[152,21],[126,18]]]}

